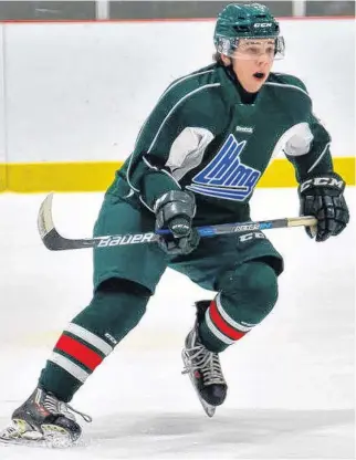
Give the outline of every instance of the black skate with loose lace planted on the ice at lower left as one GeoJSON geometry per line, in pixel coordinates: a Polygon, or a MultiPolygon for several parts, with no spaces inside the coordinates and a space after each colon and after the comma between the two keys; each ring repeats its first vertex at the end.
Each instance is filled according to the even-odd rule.
{"type": "Polygon", "coordinates": [[[36,388],[12,414],[12,425],[0,432],[0,441],[18,445],[69,447],[78,440],[82,429],[72,412],[85,421],[91,417],[74,410],[51,393],[36,388]]]}

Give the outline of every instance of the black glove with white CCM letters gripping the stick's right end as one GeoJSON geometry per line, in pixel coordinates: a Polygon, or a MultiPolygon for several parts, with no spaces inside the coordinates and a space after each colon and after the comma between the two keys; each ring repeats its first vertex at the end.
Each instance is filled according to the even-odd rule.
{"type": "Polygon", "coordinates": [[[299,186],[301,215],[317,219],[316,229],[305,228],[311,238],[325,241],[344,230],[349,220],[344,189],[345,181],[336,172],[313,177],[299,186]]]}

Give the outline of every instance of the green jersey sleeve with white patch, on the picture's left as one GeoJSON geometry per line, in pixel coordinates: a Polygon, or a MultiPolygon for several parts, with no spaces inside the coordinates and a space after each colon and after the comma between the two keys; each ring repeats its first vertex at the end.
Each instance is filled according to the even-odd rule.
{"type": "Polygon", "coordinates": [[[199,90],[164,94],[138,134],[127,180],[150,210],[159,196],[180,189],[179,180],[201,163],[219,130],[219,98],[199,90]]]}

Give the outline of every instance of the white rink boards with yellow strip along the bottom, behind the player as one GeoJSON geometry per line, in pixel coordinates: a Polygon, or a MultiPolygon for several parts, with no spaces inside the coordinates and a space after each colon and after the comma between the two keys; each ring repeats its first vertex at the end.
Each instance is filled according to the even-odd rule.
{"type": "MultiPolygon", "coordinates": [[[[0,190],[105,190],[165,88],[210,63],[213,27],[0,22],[0,190]]],[[[273,70],[304,81],[335,169],[354,185],[354,20],[284,19],[281,30],[286,55],[273,70]]],[[[294,185],[282,153],[259,182],[294,185]]]]}

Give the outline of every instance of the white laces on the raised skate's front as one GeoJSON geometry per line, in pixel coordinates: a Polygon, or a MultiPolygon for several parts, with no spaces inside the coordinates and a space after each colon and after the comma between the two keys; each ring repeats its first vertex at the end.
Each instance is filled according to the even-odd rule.
{"type": "Polygon", "coordinates": [[[186,348],[185,352],[189,358],[189,364],[186,364],[181,374],[199,370],[202,374],[205,385],[226,385],[217,353],[209,352],[203,345],[186,348]]]}

